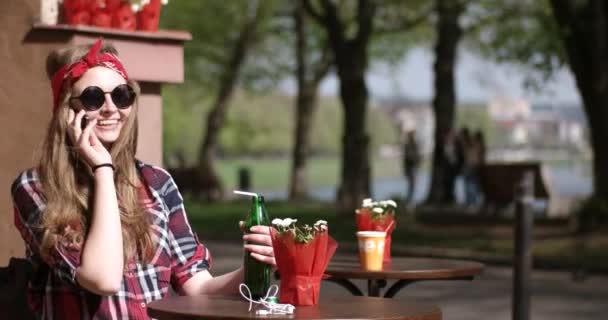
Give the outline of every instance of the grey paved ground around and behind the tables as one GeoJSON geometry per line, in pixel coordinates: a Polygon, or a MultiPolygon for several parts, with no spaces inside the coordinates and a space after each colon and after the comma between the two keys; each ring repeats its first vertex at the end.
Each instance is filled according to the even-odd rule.
{"type": "MultiPolygon", "coordinates": [[[[206,243],[213,254],[212,273],[237,268],[242,261],[238,246],[206,243]]],[[[391,283],[389,283],[389,286],[391,283]]],[[[363,283],[359,283],[364,288],[363,283]]],[[[445,320],[511,319],[512,271],[488,267],[472,282],[437,281],[412,284],[395,299],[430,302],[441,308],[445,320]]],[[[572,281],[570,273],[535,272],[532,276],[534,320],[606,319],[608,316],[608,277],[590,275],[585,281],[572,281]]],[[[332,283],[323,283],[321,298],[347,294],[332,283]]]]}

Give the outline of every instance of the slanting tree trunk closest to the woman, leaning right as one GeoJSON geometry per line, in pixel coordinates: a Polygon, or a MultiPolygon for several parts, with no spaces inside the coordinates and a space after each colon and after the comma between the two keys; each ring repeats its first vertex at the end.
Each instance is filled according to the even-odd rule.
{"type": "Polygon", "coordinates": [[[208,201],[215,201],[223,198],[224,190],[219,176],[215,172],[213,159],[217,147],[217,137],[220,129],[224,125],[226,111],[230,98],[234,92],[238,75],[241,70],[249,48],[254,42],[256,27],[260,17],[260,5],[257,5],[255,14],[250,16],[241,27],[238,38],[230,53],[230,60],[224,69],[220,79],[218,95],[213,103],[211,111],[207,115],[205,136],[202,139],[199,157],[197,176],[199,185],[198,191],[208,201]]]}

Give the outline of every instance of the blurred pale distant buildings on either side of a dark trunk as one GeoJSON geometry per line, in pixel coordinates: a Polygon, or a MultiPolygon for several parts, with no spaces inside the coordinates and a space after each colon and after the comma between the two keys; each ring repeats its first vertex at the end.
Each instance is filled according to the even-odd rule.
{"type": "MultiPolygon", "coordinates": [[[[430,102],[392,98],[379,101],[378,105],[394,120],[402,141],[408,131],[416,130],[420,151],[428,159],[433,152],[435,135],[430,102]]],[[[500,159],[518,154],[513,149],[527,150],[517,159],[539,157],[542,150],[547,149],[557,152],[549,153],[548,157],[552,159],[557,158],[553,156],[556,154],[590,155],[588,126],[580,106],[532,105],[524,99],[498,97],[488,101],[487,111],[492,123],[489,148],[496,150],[500,159]],[[505,154],[501,150],[511,151],[505,154]]],[[[387,146],[382,151],[384,155],[392,156],[400,152],[399,146],[387,146]]]]}

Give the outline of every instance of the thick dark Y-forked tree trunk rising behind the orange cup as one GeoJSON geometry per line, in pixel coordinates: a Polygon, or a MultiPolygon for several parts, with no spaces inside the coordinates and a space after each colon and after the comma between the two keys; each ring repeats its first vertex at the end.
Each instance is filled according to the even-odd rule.
{"type": "Polygon", "coordinates": [[[353,25],[345,26],[335,1],[322,0],[317,12],[310,0],[303,0],[307,12],[327,30],[328,39],[340,79],[340,98],[344,108],[342,137],[342,173],[337,190],[337,212],[353,215],[361,200],[370,192],[369,136],[367,135],[367,86],[365,72],[368,46],[373,31],[376,2],[357,1],[353,25]],[[349,37],[346,30],[357,30],[349,37]]]}

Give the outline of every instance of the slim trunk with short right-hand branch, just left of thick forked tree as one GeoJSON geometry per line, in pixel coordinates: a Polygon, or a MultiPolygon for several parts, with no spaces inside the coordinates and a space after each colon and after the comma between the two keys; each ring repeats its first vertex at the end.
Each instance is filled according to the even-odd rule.
{"type": "Polygon", "coordinates": [[[317,65],[311,66],[309,64],[306,40],[308,22],[301,2],[296,3],[294,20],[296,25],[298,96],[296,100],[296,128],[292,152],[293,163],[289,183],[289,200],[302,200],[308,197],[306,162],[310,153],[310,129],[317,109],[317,92],[319,83],[329,72],[331,59],[325,49],[317,65]]]}

